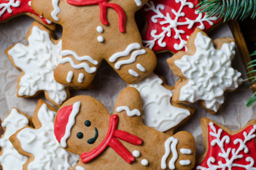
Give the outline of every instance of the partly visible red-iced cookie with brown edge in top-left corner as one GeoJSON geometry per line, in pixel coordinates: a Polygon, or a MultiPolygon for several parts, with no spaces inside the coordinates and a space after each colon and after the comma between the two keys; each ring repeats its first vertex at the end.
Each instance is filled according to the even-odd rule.
{"type": "Polygon", "coordinates": [[[31,0],[1,0],[0,23],[8,22],[11,18],[19,15],[28,15],[51,30],[55,30],[55,23],[38,15],[31,8],[31,0]]]}

